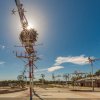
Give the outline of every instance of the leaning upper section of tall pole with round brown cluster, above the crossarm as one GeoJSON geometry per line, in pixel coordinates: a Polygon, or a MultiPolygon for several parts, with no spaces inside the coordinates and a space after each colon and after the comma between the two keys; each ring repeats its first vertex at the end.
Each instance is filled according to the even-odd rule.
{"type": "Polygon", "coordinates": [[[25,47],[27,53],[31,55],[32,53],[34,53],[33,45],[37,41],[38,34],[34,29],[32,28],[28,29],[29,25],[28,25],[28,21],[24,14],[25,10],[23,8],[23,4],[20,3],[20,0],[15,0],[15,3],[18,9],[20,22],[23,28],[19,38],[20,38],[22,45],[25,47]]]}

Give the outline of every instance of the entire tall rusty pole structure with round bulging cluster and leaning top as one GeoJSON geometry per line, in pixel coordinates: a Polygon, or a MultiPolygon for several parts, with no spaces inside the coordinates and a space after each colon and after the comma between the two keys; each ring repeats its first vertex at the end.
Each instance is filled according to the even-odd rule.
{"type": "Polygon", "coordinates": [[[12,13],[15,14],[15,12],[18,12],[20,17],[20,22],[22,26],[22,31],[20,33],[19,39],[21,41],[22,47],[25,48],[26,53],[25,56],[18,55],[16,52],[16,56],[18,58],[26,58],[28,59],[28,66],[29,66],[29,78],[30,78],[30,100],[32,100],[32,93],[33,93],[33,72],[35,64],[34,62],[38,60],[38,57],[36,56],[36,52],[34,50],[35,42],[37,41],[37,32],[31,28],[28,29],[28,21],[24,14],[25,10],[23,8],[23,4],[20,3],[20,0],[15,0],[17,11],[14,9],[12,10],[12,13]]]}

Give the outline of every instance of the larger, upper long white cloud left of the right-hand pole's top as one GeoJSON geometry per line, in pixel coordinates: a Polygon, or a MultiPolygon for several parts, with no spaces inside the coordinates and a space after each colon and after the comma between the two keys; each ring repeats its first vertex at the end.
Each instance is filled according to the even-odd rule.
{"type": "Polygon", "coordinates": [[[88,57],[85,57],[85,55],[80,56],[68,56],[68,57],[58,57],[56,60],[56,63],[54,65],[60,65],[63,63],[73,63],[78,65],[85,65],[88,64],[88,57]]]}

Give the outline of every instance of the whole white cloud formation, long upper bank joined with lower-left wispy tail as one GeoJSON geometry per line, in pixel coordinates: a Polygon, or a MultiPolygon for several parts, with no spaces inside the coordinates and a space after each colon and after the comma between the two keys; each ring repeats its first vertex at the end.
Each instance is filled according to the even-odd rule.
{"type": "Polygon", "coordinates": [[[46,68],[46,69],[40,69],[40,70],[37,70],[36,72],[45,72],[45,71],[53,72],[53,71],[56,71],[56,70],[60,70],[60,69],[64,68],[63,66],[60,66],[63,63],[86,65],[89,62],[88,62],[88,57],[86,57],[85,55],[57,57],[57,59],[55,60],[55,64],[52,67],[49,67],[49,68],[46,68]]]}

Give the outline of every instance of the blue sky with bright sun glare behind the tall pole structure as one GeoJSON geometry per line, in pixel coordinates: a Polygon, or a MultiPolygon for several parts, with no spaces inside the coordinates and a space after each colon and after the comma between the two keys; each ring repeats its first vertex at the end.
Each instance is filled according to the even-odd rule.
{"type": "MultiPolygon", "coordinates": [[[[21,0],[29,23],[39,33],[35,49],[42,60],[36,62],[39,74],[72,73],[75,70],[90,72],[89,64],[76,64],[73,59],[88,56],[100,58],[100,0],[21,0]],[[83,55],[83,56],[82,56],[83,55]],[[57,58],[66,60],[55,65],[57,58]],[[66,58],[64,58],[66,57],[66,58]],[[74,57],[73,59],[71,59],[74,57]],[[68,61],[70,59],[70,61],[68,61]],[[74,62],[74,63],[73,63],[74,62]],[[48,68],[63,67],[54,72],[48,68]]],[[[19,34],[21,25],[18,14],[12,15],[16,5],[14,0],[0,1],[0,80],[16,79],[24,68],[24,63],[15,57],[14,45],[21,45],[19,34]]],[[[20,50],[19,50],[20,49],[20,50]]],[[[100,68],[95,62],[94,70],[100,68]]]]}

